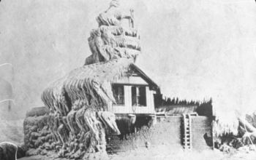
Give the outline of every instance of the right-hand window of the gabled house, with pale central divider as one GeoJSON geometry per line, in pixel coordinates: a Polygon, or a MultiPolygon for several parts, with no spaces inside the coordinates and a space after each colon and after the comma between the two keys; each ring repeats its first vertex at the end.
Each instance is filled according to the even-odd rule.
{"type": "Polygon", "coordinates": [[[132,87],[132,106],[146,106],[146,87],[132,87]]]}

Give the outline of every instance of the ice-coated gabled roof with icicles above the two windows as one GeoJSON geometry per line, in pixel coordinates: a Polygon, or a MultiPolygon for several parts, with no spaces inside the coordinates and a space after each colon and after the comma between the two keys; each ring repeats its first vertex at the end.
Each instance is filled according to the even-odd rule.
{"type": "MultiPolygon", "coordinates": [[[[59,79],[42,93],[42,100],[48,107],[58,103],[67,103],[67,98],[72,104],[76,100],[87,100],[86,95],[101,97],[105,102],[115,102],[111,84],[115,79],[127,76],[131,68],[138,71],[148,84],[157,87],[146,74],[138,68],[132,59],[119,58],[104,63],[84,65],[59,79]]],[[[97,98],[94,98],[97,99],[97,98]]]]}

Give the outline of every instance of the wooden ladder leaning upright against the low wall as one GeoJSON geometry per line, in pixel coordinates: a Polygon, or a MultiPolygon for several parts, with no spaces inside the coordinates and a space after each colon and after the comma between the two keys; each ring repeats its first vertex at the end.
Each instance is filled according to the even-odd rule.
{"type": "Polygon", "coordinates": [[[189,114],[183,114],[183,145],[185,150],[192,149],[192,134],[191,134],[191,116],[189,114]]]}

